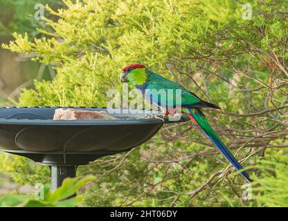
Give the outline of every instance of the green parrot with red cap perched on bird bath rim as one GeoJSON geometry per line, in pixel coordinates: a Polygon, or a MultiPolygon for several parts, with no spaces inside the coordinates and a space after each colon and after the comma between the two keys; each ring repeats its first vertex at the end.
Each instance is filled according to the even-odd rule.
{"type": "Polygon", "coordinates": [[[197,97],[197,95],[186,90],[180,84],[170,81],[161,75],[157,75],[143,64],[130,64],[123,68],[123,71],[120,74],[120,81],[134,84],[134,86],[141,91],[145,99],[164,108],[166,110],[165,115],[173,114],[169,111],[171,108],[180,107],[181,113],[188,115],[192,122],[198,124],[206,136],[215,144],[215,146],[217,146],[219,151],[235,169],[240,172],[245,180],[251,182],[249,174],[246,171],[243,171],[241,164],[237,162],[232,153],[228,151],[228,148],[226,148],[220,138],[216,135],[202,112],[202,108],[219,109],[217,105],[204,102],[197,97]],[[158,93],[159,90],[165,91],[166,94],[168,94],[167,99],[161,98],[163,93],[158,93]],[[172,97],[169,97],[169,92],[171,91],[174,93],[172,93],[172,97]]]}

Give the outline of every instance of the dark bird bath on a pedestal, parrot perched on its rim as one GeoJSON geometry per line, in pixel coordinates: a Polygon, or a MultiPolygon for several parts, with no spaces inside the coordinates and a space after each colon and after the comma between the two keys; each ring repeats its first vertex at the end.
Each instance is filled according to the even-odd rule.
{"type": "MultiPolygon", "coordinates": [[[[0,151],[50,166],[52,189],[66,177],[75,177],[77,166],[129,151],[150,140],[168,122],[147,119],[145,113],[125,113],[125,109],[112,114],[117,119],[54,121],[56,108],[60,107],[0,108],[0,151]]],[[[186,120],[181,117],[177,122],[186,120]]]]}

